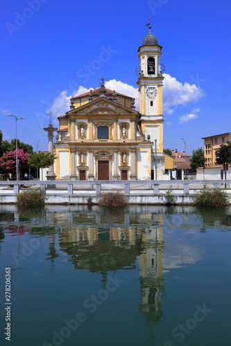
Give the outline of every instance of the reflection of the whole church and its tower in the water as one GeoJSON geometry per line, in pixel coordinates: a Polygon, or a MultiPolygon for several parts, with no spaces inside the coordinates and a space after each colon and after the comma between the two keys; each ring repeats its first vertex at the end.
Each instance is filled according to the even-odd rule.
{"type": "MultiPolygon", "coordinates": [[[[71,256],[76,269],[101,273],[107,281],[109,271],[137,268],[139,263],[141,303],[139,309],[146,323],[153,325],[162,316],[162,253],[164,251],[163,215],[132,214],[110,215],[98,209],[92,212],[49,213],[50,220],[60,224],[60,250],[71,256]]],[[[50,241],[55,241],[50,238],[50,241]]],[[[54,245],[54,244],[53,244],[54,245]]],[[[49,259],[56,256],[50,245],[49,259]]]]}

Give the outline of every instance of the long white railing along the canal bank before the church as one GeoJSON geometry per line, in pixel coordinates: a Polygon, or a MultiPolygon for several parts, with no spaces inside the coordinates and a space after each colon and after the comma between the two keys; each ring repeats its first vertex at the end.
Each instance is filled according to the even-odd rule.
{"type": "Polygon", "coordinates": [[[123,190],[125,194],[130,194],[130,188],[137,188],[137,190],[142,190],[142,188],[145,188],[144,185],[148,185],[149,189],[152,190],[153,194],[159,194],[160,188],[162,189],[168,189],[170,185],[172,185],[172,188],[176,189],[182,189],[184,191],[184,194],[189,193],[189,190],[194,190],[195,188],[198,188],[197,185],[200,185],[199,188],[203,188],[203,185],[212,185],[209,188],[220,188],[221,184],[227,185],[231,184],[231,180],[157,180],[157,181],[144,181],[144,180],[135,180],[135,181],[0,181],[0,186],[6,185],[14,186],[14,193],[19,193],[20,185],[29,186],[29,185],[40,185],[40,188],[46,190],[46,188],[52,188],[55,190],[58,190],[58,188],[67,187],[67,193],[73,194],[74,188],[81,189],[91,189],[95,190],[96,194],[101,193],[102,187],[105,188],[107,185],[112,185],[108,187],[108,190],[117,190],[119,185],[123,185],[123,190]],[[195,186],[196,185],[196,186],[195,186]],[[86,188],[87,187],[87,188],[86,188]]]}

